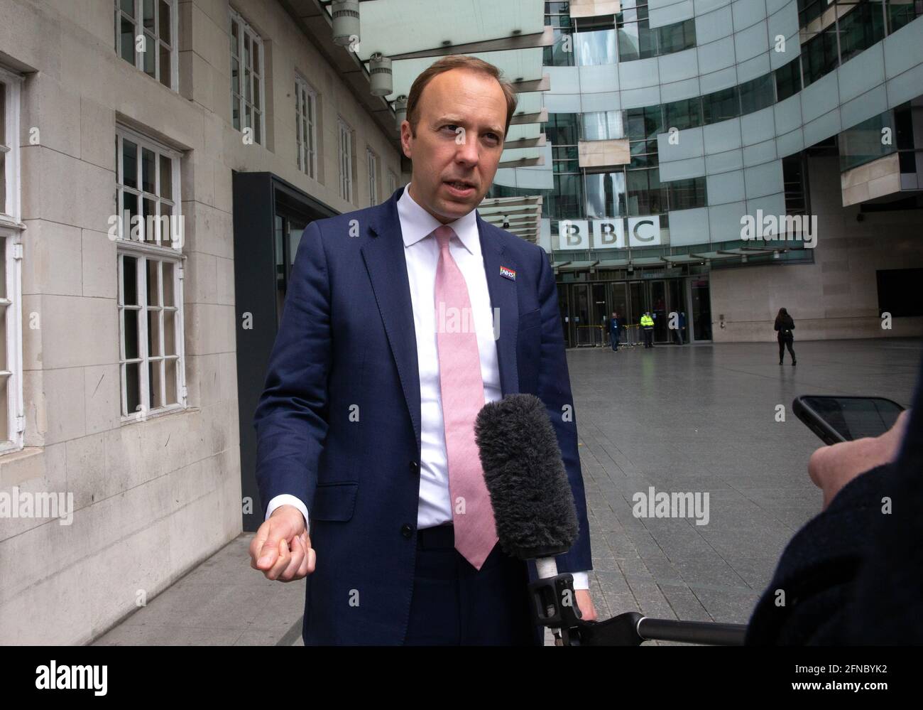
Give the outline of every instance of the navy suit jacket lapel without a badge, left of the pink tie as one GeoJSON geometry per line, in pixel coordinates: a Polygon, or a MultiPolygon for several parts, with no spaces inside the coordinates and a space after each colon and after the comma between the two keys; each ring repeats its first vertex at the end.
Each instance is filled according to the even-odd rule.
{"type": "Polygon", "coordinates": [[[414,304],[410,297],[401,220],[397,209],[397,201],[402,192],[403,188],[395,191],[390,200],[382,203],[373,214],[368,226],[373,239],[363,245],[362,257],[372,281],[381,320],[385,324],[391,354],[397,364],[419,448],[420,369],[416,360],[414,304]]]}

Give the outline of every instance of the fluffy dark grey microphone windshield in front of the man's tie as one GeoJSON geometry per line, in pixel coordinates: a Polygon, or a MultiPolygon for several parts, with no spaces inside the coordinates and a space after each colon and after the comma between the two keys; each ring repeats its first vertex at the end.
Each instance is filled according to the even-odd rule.
{"type": "Polygon", "coordinates": [[[580,530],[573,493],[542,400],[507,395],[474,422],[500,547],[534,559],[567,552],[580,530]]]}

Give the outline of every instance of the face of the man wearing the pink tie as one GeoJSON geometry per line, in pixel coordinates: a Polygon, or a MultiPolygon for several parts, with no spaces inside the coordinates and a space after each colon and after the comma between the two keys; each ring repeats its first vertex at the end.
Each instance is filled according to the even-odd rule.
{"type": "Polygon", "coordinates": [[[416,136],[408,121],[401,125],[414,201],[442,224],[477,207],[497,173],[506,122],[496,79],[462,68],[430,80],[417,103],[416,136]]]}

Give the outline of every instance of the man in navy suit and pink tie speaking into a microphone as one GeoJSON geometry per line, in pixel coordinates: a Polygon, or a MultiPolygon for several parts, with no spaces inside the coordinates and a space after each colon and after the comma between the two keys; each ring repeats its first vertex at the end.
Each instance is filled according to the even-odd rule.
{"type": "Polygon", "coordinates": [[[271,580],[307,575],[306,644],[542,643],[534,565],[496,544],[473,449],[476,410],[517,392],[557,435],[580,520],[557,569],[595,618],[554,275],[475,211],[515,108],[496,67],[440,59],[408,96],[410,184],[298,247],[254,422],[267,517],[250,555],[271,580]]]}

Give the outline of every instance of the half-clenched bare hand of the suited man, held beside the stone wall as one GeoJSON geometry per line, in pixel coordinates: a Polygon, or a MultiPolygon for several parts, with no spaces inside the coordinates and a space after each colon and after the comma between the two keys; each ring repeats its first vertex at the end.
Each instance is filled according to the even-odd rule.
{"type": "Polygon", "coordinates": [[[250,543],[250,567],[262,571],[268,580],[300,580],[313,572],[316,564],[305,516],[294,506],[273,510],[250,543]]]}

